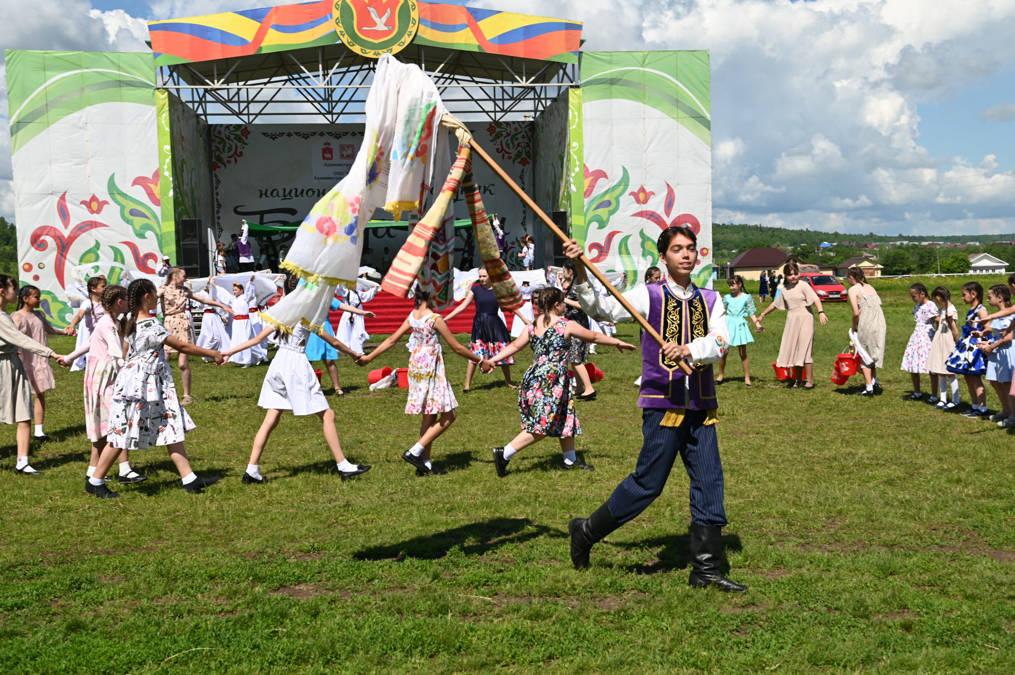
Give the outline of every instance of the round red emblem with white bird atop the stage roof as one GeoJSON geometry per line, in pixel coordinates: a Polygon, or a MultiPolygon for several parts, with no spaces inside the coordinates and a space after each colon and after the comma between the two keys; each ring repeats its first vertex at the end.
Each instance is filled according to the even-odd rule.
{"type": "Polygon", "coordinates": [[[332,16],[345,46],[375,59],[401,52],[419,28],[416,0],[335,0],[332,16]]]}

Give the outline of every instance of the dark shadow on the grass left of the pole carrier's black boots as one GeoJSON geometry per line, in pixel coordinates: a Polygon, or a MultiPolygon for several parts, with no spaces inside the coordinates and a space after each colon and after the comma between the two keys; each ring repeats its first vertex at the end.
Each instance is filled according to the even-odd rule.
{"type": "Polygon", "coordinates": [[[481,555],[500,546],[523,543],[546,534],[565,536],[563,532],[545,525],[533,525],[528,518],[493,518],[387,546],[370,546],[356,551],[352,557],[357,560],[399,562],[407,557],[435,560],[456,547],[466,555],[481,555]]]}

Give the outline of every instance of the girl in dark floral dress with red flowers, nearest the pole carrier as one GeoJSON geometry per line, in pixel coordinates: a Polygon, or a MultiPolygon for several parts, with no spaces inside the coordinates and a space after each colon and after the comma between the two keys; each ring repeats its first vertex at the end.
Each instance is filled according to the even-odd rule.
{"type": "Polygon", "coordinates": [[[620,352],[634,350],[633,345],[593,332],[563,318],[566,305],[559,289],[542,289],[538,303],[539,318],[490,360],[495,363],[532,345],[532,365],[522,376],[522,386],[518,390],[522,432],[504,447],[493,448],[493,468],[501,477],[507,475],[507,462],[516,452],[547,436],[560,439],[565,469],[593,470],[594,467],[578,459],[574,452],[574,437],[582,433],[582,425],[574,410],[574,381],[568,373],[570,341],[608,345],[620,352]]]}

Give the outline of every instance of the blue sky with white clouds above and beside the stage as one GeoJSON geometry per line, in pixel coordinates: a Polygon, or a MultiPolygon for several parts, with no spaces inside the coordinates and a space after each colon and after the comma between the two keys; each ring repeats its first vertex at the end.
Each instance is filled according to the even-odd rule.
{"type": "MultiPolygon", "coordinates": [[[[1015,0],[448,1],[584,21],[586,51],[709,50],[719,222],[1015,233],[1015,0]]],[[[146,19],[267,4],[10,2],[0,45],[144,51],[146,19]]]]}

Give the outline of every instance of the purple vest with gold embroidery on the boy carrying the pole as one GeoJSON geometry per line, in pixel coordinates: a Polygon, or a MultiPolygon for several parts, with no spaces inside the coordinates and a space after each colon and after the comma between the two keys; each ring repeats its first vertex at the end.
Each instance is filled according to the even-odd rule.
{"type": "MultiPolygon", "coordinates": [[[[719,293],[694,287],[694,294],[680,300],[665,282],[649,284],[649,323],[668,343],[688,345],[695,338],[708,334],[708,317],[719,301],[719,293]]],[[[692,410],[710,410],[719,406],[712,365],[696,366],[693,375],[685,375],[676,361],[667,361],[652,335],[641,333],[641,391],[638,407],[683,408],[689,400],[692,410]],[[690,396],[686,389],[690,387],[690,396]]]]}

